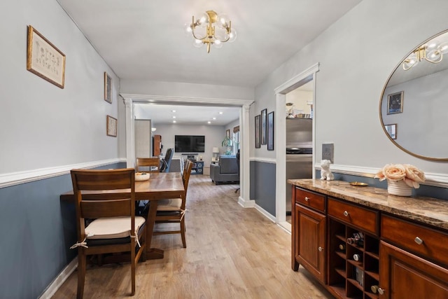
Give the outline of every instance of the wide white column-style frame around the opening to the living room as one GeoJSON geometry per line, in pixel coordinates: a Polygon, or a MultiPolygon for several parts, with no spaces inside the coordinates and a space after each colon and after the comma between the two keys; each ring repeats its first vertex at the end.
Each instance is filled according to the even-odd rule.
{"type": "Polygon", "coordinates": [[[243,207],[253,207],[253,200],[250,200],[250,163],[249,163],[249,107],[253,103],[252,99],[214,99],[214,98],[196,98],[196,97],[171,97],[160,95],[134,95],[120,94],[125,102],[126,115],[126,162],[127,167],[134,167],[135,162],[135,144],[134,144],[134,103],[153,103],[153,104],[193,104],[197,106],[240,106],[239,112],[239,130],[241,132],[240,141],[240,190],[239,204],[243,207]]]}

